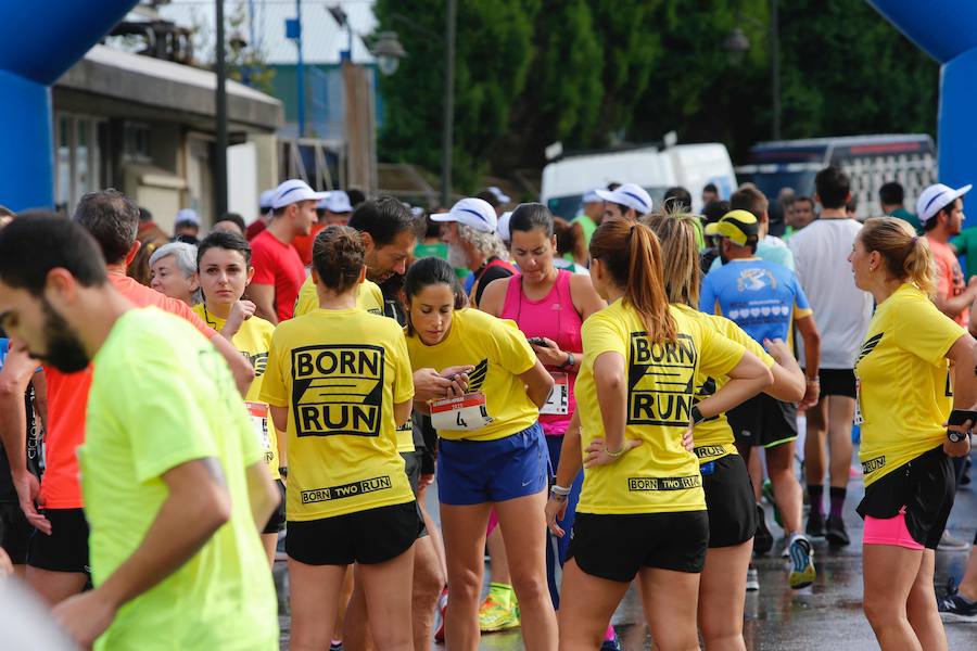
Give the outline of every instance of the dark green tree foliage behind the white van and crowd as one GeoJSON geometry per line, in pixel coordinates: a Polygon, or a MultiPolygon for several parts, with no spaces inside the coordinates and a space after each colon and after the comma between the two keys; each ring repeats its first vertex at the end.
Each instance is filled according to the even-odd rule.
{"type": "MultiPolygon", "coordinates": [[[[385,159],[440,169],[444,0],[378,0],[409,55],[381,80],[385,159]],[[394,17],[407,16],[424,31],[394,17]]],[[[864,0],[779,0],[783,138],[935,132],[939,67],[864,0]]],[[[771,0],[458,2],[455,180],[541,167],[543,149],[724,142],[772,125],[771,0]],[[740,63],[724,41],[739,26],[740,63]],[[491,162],[491,166],[490,166],[491,162]]]]}

